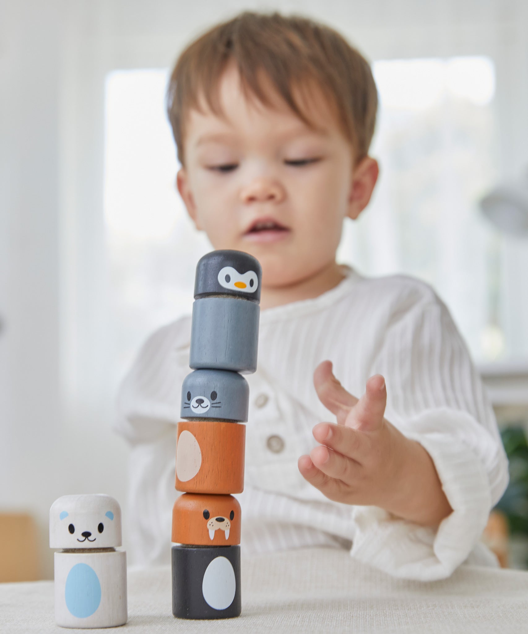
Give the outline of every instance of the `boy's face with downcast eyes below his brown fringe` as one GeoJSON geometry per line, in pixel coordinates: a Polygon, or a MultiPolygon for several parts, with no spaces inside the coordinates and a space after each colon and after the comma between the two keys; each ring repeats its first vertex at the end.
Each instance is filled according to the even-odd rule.
{"type": "MultiPolygon", "coordinates": [[[[351,143],[320,93],[312,93],[313,131],[269,89],[273,108],[241,92],[235,67],[219,86],[227,120],[191,110],[178,189],[196,228],[215,249],[237,249],[262,265],[262,284],[299,283],[335,262],[345,216],[370,198],[356,182],[351,143]]],[[[368,158],[368,157],[367,157],[368,158]]],[[[373,167],[370,165],[370,174],[373,167]]],[[[372,180],[372,179],[371,179],[372,180]]]]}

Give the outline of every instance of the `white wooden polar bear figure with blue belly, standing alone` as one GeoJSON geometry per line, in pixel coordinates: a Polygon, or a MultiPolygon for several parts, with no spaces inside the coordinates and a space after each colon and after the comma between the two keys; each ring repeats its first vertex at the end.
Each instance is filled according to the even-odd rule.
{"type": "Polygon", "coordinates": [[[49,510],[55,553],[55,621],[65,628],[127,622],[127,556],[121,509],[108,495],[65,495],[49,510]]]}

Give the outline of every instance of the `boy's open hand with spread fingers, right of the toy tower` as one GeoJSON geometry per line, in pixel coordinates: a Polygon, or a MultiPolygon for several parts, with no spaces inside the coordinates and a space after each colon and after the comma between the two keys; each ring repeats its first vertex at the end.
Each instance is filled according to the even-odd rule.
{"type": "Polygon", "coordinates": [[[367,381],[358,400],[334,377],[332,363],[323,361],[314,385],[337,425],[314,427],[321,444],[299,458],[308,482],[330,500],[378,506],[419,524],[437,524],[451,513],[427,451],[383,417],[387,390],[381,375],[367,381]]]}

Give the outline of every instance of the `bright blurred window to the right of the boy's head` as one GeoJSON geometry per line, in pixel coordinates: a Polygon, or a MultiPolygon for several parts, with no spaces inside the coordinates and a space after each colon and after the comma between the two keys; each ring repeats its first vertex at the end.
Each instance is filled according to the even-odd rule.
{"type": "Polygon", "coordinates": [[[340,256],[367,275],[432,284],[473,358],[501,358],[501,236],[478,207],[499,178],[493,61],[377,61],[373,72],[380,108],[371,155],[380,179],[369,207],[345,228],[340,256]]]}

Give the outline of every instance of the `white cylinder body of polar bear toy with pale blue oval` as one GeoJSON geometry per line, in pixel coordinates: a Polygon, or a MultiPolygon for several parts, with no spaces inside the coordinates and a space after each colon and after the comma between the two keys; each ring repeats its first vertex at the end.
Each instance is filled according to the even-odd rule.
{"type": "Polygon", "coordinates": [[[126,623],[126,552],[56,552],[55,621],[63,628],[126,623]]]}

